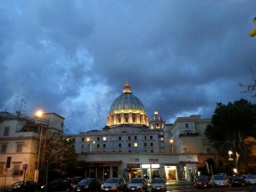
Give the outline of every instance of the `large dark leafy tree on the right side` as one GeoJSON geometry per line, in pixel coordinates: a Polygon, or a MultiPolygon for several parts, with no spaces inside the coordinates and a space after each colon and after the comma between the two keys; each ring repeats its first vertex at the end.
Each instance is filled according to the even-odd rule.
{"type": "MultiPolygon", "coordinates": [[[[211,123],[207,126],[205,135],[219,154],[227,157],[231,150],[240,160],[245,159],[246,138],[255,137],[256,105],[245,99],[229,102],[227,105],[217,103],[211,123]]],[[[240,162],[237,158],[237,166],[240,162]]]]}

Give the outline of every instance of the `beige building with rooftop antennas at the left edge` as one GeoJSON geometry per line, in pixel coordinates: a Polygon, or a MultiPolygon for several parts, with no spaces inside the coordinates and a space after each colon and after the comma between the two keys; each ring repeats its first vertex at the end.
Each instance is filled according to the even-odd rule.
{"type": "Polygon", "coordinates": [[[47,130],[62,135],[64,119],[55,113],[31,119],[20,113],[0,112],[0,186],[23,180],[24,166],[28,167],[26,180],[35,179],[40,134],[47,130]],[[11,157],[9,168],[7,157],[11,157]]]}

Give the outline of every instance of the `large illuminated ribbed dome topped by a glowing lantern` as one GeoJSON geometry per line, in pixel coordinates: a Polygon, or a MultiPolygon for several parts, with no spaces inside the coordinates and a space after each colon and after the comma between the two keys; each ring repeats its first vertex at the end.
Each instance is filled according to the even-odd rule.
{"type": "Polygon", "coordinates": [[[148,126],[148,116],[139,98],[134,96],[128,81],[125,82],[123,93],[112,103],[109,116],[106,118],[108,126],[116,124],[139,124],[148,126]]]}

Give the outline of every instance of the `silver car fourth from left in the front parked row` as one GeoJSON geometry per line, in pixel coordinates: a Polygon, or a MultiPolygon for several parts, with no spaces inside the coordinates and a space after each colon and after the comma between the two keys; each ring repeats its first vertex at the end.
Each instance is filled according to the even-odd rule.
{"type": "Polygon", "coordinates": [[[109,178],[101,185],[101,191],[116,191],[126,190],[126,182],[122,178],[109,178]]]}

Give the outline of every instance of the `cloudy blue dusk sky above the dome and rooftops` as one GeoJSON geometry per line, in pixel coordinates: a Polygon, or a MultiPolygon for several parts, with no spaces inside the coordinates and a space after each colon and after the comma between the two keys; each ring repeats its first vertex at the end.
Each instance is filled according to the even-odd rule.
{"type": "MultiPolygon", "coordinates": [[[[148,116],[211,118],[256,75],[256,1],[1,1],[0,111],[102,130],[125,80],[148,116]],[[23,99],[23,102],[21,100],[23,99]],[[26,102],[26,104],[25,104],[26,102]]],[[[255,94],[255,93],[254,93],[255,94]]]]}

